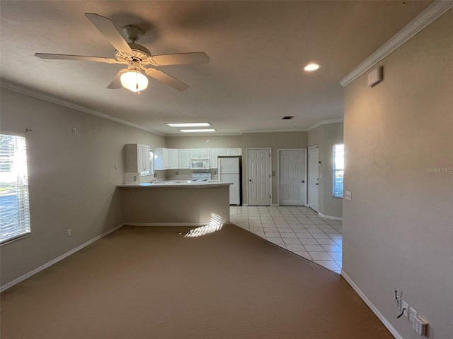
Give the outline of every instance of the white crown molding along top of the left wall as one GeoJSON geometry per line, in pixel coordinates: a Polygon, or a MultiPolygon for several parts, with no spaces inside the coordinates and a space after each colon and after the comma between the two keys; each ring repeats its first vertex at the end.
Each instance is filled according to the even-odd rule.
{"type": "Polygon", "coordinates": [[[115,121],[118,124],[123,124],[123,125],[126,125],[126,126],[134,127],[134,129],[141,129],[142,131],[147,131],[149,133],[154,133],[154,134],[157,134],[159,136],[165,136],[164,134],[158,133],[158,132],[153,131],[151,129],[146,129],[143,126],[139,126],[137,124],[133,124],[132,122],[129,122],[129,121],[126,121],[126,120],[122,120],[122,119],[118,119],[118,118],[115,118],[115,117],[110,117],[110,115],[103,114],[103,113],[97,112],[97,111],[95,111],[93,109],[89,109],[89,108],[86,108],[86,107],[83,107],[83,106],[80,106],[80,105],[76,105],[76,104],[74,104],[72,102],[69,102],[67,100],[59,99],[58,97],[55,97],[53,95],[48,95],[48,94],[42,93],[42,92],[40,92],[38,90],[32,90],[31,88],[25,88],[25,87],[23,87],[21,85],[16,85],[16,84],[10,83],[8,81],[2,80],[1,83],[0,83],[0,87],[1,88],[5,88],[6,90],[12,90],[13,92],[21,93],[23,95],[28,95],[30,97],[36,97],[38,99],[45,100],[47,102],[52,102],[52,103],[60,105],[60,106],[68,107],[68,108],[71,108],[71,109],[76,109],[77,111],[84,112],[86,114],[91,114],[91,115],[94,115],[96,117],[100,117],[100,118],[103,118],[103,119],[115,121]]]}

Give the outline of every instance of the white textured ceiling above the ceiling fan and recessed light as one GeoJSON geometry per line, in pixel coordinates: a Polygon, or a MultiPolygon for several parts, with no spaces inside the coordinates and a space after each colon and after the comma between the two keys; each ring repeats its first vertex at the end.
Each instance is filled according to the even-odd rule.
{"type": "Polygon", "coordinates": [[[432,1],[1,1],[1,83],[163,135],[209,121],[219,134],[303,131],[343,117],[339,81],[432,1]],[[210,64],[161,66],[141,95],[107,88],[118,64],[43,60],[35,52],[113,58],[84,16],[138,25],[152,54],[206,52],[210,64]],[[302,68],[321,64],[315,73],[302,68]],[[282,120],[284,116],[294,116],[282,120]]]}

